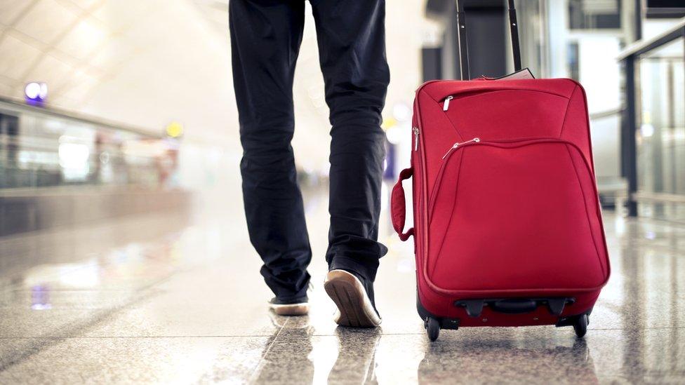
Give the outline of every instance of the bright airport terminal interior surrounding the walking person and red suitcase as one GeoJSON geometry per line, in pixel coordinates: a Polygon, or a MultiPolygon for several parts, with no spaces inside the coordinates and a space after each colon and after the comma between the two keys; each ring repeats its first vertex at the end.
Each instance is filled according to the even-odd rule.
{"type": "MultiPolygon", "coordinates": [[[[0,384],[685,384],[682,1],[516,1],[524,67],[586,90],[611,278],[584,338],[461,327],[435,342],[390,190],[415,89],[459,77],[455,2],[387,1],[389,252],[368,329],[336,325],[323,287],[331,125],[308,2],[293,148],[311,309],[267,306],[227,4],[0,0],[0,384]]],[[[464,4],[472,76],[512,72],[507,1],[464,4]]]]}

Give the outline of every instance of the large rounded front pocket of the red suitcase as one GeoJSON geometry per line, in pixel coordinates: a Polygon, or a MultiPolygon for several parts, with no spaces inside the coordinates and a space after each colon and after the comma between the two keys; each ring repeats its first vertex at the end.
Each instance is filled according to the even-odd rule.
{"type": "Polygon", "coordinates": [[[592,170],[571,142],[448,149],[429,200],[427,278],[443,290],[597,288],[608,267],[592,170]]]}

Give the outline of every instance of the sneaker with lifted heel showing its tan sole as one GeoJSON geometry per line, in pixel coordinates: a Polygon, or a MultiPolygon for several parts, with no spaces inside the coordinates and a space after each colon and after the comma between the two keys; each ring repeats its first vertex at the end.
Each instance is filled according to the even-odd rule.
{"type": "Polygon", "coordinates": [[[331,270],[324,290],[338,306],[335,323],[341,326],[376,327],[380,316],[373,304],[373,284],[345,270],[331,270]]]}

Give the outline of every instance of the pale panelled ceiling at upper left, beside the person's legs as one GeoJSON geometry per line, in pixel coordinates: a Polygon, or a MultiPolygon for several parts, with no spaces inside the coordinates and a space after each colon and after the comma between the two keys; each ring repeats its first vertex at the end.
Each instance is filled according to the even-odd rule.
{"type": "Polygon", "coordinates": [[[234,142],[226,135],[235,116],[227,39],[204,8],[0,0],[0,95],[20,98],[25,83],[44,81],[48,106],[155,133],[182,121],[194,140],[234,142]]]}

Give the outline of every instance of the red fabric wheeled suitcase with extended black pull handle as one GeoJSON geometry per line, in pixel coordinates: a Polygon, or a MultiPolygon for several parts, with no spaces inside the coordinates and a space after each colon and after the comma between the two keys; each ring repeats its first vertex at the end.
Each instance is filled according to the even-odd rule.
{"type": "Polygon", "coordinates": [[[583,87],[569,79],[429,81],[416,91],[412,135],[411,167],[392,190],[391,210],[400,238],[415,238],[428,337],[523,325],[572,325],[583,337],[609,276],[583,87]],[[414,227],[403,233],[409,177],[414,227]]]}

